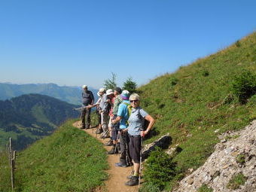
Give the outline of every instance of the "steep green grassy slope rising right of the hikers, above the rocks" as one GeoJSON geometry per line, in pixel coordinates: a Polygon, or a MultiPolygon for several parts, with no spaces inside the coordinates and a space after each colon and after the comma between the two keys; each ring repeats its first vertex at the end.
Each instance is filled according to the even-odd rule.
{"type": "Polygon", "coordinates": [[[139,88],[142,107],[157,120],[158,136],[170,133],[172,146],[182,149],[174,158],[179,176],[202,165],[218,134],[239,130],[256,118],[256,96],[242,105],[231,91],[244,69],[256,77],[256,32],[139,88]]]}

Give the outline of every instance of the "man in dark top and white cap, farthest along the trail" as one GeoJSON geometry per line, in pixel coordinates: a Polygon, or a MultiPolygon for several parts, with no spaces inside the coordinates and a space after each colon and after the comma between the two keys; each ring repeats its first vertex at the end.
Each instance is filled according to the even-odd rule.
{"type": "MultiPolygon", "coordinates": [[[[87,105],[93,105],[94,96],[93,93],[88,90],[87,85],[83,85],[83,92],[82,92],[82,102],[83,106],[86,107],[87,105]]],[[[82,120],[82,129],[89,129],[90,128],[90,108],[83,108],[81,111],[81,120],[82,120]]]]}

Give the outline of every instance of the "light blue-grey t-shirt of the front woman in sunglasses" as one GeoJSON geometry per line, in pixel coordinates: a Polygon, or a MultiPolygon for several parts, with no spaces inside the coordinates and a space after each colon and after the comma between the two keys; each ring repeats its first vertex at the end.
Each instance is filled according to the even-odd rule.
{"type": "Polygon", "coordinates": [[[139,136],[142,131],[145,117],[148,115],[141,107],[132,108],[128,123],[128,133],[131,136],[139,136]]]}

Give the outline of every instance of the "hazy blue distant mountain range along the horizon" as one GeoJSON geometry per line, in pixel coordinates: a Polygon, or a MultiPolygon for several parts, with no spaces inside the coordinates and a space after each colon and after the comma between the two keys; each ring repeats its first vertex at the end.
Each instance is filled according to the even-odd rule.
{"type": "MultiPolygon", "coordinates": [[[[89,87],[97,98],[98,90],[89,87]]],[[[81,104],[81,87],[58,86],[57,84],[9,84],[0,83],[0,100],[11,99],[23,94],[38,93],[52,96],[64,102],[81,104]]]]}

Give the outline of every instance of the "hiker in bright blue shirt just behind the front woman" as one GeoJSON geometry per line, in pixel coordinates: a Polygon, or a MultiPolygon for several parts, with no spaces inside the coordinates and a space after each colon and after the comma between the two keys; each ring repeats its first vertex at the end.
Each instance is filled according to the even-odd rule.
{"type": "Polygon", "coordinates": [[[123,102],[118,106],[117,117],[112,120],[112,123],[115,124],[120,122],[119,138],[120,138],[120,162],[115,163],[115,166],[126,167],[131,165],[131,158],[128,148],[128,134],[127,134],[127,120],[129,118],[128,106],[130,105],[129,101],[130,93],[128,90],[123,90],[120,94],[120,97],[123,99],[123,102]]]}

